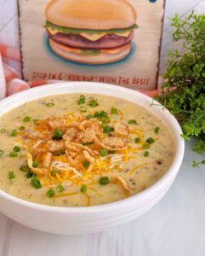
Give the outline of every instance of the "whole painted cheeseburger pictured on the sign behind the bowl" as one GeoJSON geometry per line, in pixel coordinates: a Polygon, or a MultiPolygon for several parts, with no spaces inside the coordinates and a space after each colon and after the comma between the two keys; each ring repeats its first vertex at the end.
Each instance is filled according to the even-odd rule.
{"type": "Polygon", "coordinates": [[[51,0],[45,16],[54,52],[88,64],[125,58],[137,27],[135,9],[127,0],[51,0]]]}

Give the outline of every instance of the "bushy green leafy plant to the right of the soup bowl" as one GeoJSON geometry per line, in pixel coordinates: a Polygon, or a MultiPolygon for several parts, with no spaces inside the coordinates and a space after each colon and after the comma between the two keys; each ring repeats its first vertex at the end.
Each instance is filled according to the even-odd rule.
{"type": "Polygon", "coordinates": [[[174,113],[186,140],[197,137],[194,150],[205,152],[205,15],[172,19],[173,40],[182,49],[170,51],[162,95],[157,100],[174,113]]]}

